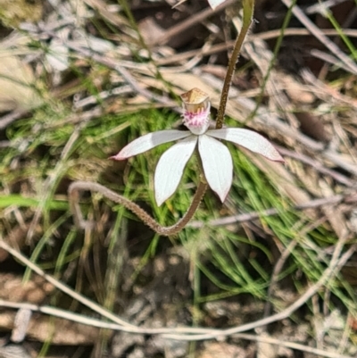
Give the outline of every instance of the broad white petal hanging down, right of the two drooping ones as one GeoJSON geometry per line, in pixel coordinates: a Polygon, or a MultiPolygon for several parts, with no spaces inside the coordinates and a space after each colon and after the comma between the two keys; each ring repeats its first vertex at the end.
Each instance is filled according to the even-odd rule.
{"type": "Polygon", "coordinates": [[[228,147],[206,135],[200,136],[198,150],[208,185],[220,196],[223,203],[233,178],[233,162],[228,147]]]}

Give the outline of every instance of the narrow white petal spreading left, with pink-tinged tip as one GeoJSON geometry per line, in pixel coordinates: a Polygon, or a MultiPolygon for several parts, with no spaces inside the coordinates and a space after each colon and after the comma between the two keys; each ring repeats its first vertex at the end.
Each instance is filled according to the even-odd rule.
{"type": "Polygon", "coordinates": [[[191,133],[182,130],[159,130],[154,133],[145,134],[143,137],[138,137],[129,143],[128,146],[124,146],[120,152],[113,155],[111,158],[117,161],[122,161],[130,156],[141,154],[149,149],[153,149],[155,146],[160,146],[163,143],[172,142],[173,140],[182,139],[191,136],[191,133]]]}

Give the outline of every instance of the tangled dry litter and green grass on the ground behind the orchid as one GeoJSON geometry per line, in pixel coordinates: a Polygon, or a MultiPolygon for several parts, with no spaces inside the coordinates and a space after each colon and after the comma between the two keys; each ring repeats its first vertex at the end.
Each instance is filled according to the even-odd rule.
{"type": "MultiPolygon", "coordinates": [[[[83,234],[72,225],[70,211],[56,209],[58,201],[67,203],[71,181],[86,179],[127,192],[153,207],[164,223],[186,210],[182,206],[195,173],[189,171],[178,196],[156,210],[145,194],[155,154],[145,157],[147,165],[130,163],[134,173],[129,164],[107,161],[130,138],[175,128],[166,118],[180,112],[177,98],[183,92],[198,87],[213,107],[219,104],[240,26],[237,2],[226,1],[215,12],[205,1],[172,9],[174,3],[0,2],[1,196],[11,201],[20,194],[38,203],[2,205],[1,240],[143,329],[239,327],[284,312],[337,260],[335,276],[287,318],[257,326],[247,336],[228,335],[226,342],[188,345],[184,337],[179,343],[157,335],[114,334],[75,318],[33,312],[17,347],[36,355],[38,343],[51,342],[43,346],[46,356],[58,356],[61,349],[62,356],[88,356],[86,346],[98,357],[105,352],[113,357],[353,356],[357,102],[355,67],[345,58],[357,36],[347,16],[355,10],[353,1],[334,3],[328,15],[313,7],[318,2],[299,3],[303,12],[297,6],[293,12],[300,22],[293,17],[285,29],[289,2],[256,4],[227,115],[230,126],[269,137],[286,165],[237,153],[234,188],[223,205],[211,194],[203,201],[195,217],[203,224],[199,233],[191,225],[179,240],[165,241],[120,208],[84,196],[87,217],[97,225],[83,234]],[[319,200],[323,204],[316,204],[319,200]],[[262,214],[271,208],[272,216],[262,214]],[[259,219],[249,218],[253,212],[260,212],[259,219]],[[245,221],[233,225],[242,214],[245,221]],[[124,220],[127,230],[120,225],[124,220]],[[109,264],[112,252],[118,260],[109,264]],[[217,304],[214,310],[211,303],[217,304]]],[[[2,330],[12,330],[21,304],[93,316],[51,284],[44,293],[46,279],[39,282],[2,250],[2,330]]],[[[13,346],[7,336],[0,352],[13,346]]]]}

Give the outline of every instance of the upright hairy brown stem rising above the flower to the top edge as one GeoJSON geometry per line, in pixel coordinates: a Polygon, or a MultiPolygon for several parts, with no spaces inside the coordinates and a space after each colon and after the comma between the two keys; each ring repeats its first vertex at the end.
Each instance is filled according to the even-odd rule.
{"type": "Polygon", "coordinates": [[[236,63],[238,61],[240,50],[245,41],[246,34],[248,33],[252,24],[253,9],[254,9],[253,0],[243,1],[243,25],[241,31],[238,34],[236,44],[233,47],[232,55],[230,56],[230,60],[228,62],[228,69],[223,83],[222,94],[220,95],[220,107],[217,113],[216,129],[221,129],[223,127],[224,114],[226,112],[229,88],[232,83],[233,73],[236,70],[236,63]]]}

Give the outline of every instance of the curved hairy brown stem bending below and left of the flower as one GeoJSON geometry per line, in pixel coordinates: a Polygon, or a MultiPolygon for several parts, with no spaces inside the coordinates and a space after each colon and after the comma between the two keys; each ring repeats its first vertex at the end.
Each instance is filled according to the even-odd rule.
{"type": "Polygon", "coordinates": [[[112,200],[112,202],[124,205],[130,212],[134,212],[137,217],[141,221],[143,221],[150,229],[153,229],[159,235],[169,237],[170,235],[175,235],[179,231],[184,229],[187,222],[192,219],[195,214],[195,211],[197,210],[197,207],[201,203],[204,193],[207,190],[207,184],[203,182],[203,180],[200,180],[200,183],[195,192],[194,199],[187,212],[176,224],[172,226],[160,225],[139,205],[133,203],[131,200],[127,199],[124,196],[120,196],[120,194],[113,192],[112,190],[108,189],[107,187],[104,187],[103,185],[91,181],[74,181],[68,188],[68,194],[71,212],[73,212],[75,223],[80,229],[91,229],[95,226],[94,222],[85,221],[83,219],[83,215],[79,207],[79,192],[86,190],[100,193],[107,199],[112,200]]]}

